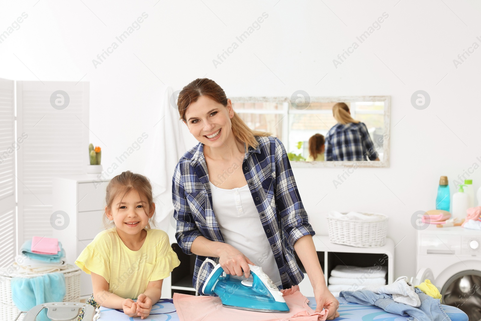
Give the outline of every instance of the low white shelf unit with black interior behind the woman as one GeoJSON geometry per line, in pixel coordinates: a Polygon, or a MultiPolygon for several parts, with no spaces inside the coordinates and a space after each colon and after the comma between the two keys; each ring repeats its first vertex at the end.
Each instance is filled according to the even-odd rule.
{"type": "MultiPolygon", "coordinates": [[[[394,279],[394,242],[386,239],[386,244],[380,247],[354,247],[341,244],[333,244],[329,241],[328,235],[315,235],[313,237],[314,245],[316,246],[317,257],[324,272],[326,284],[332,269],[336,265],[351,265],[358,267],[373,267],[375,264],[387,267],[386,282],[390,284],[394,279]]],[[[170,293],[175,292],[195,294],[195,289],[192,287],[192,275],[194,270],[195,255],[185,255],[180,247],[172,244],[172,248],[177,253],[180,260],[180,266],[172,271],[172,284],[170,286],[170,293]]],[[[305,273],[304,267],[300,260],[298,264],[304,272],[304,280],[299,284],[299,289],[305,296],[314,296],[311,282],[305,273]]]]}

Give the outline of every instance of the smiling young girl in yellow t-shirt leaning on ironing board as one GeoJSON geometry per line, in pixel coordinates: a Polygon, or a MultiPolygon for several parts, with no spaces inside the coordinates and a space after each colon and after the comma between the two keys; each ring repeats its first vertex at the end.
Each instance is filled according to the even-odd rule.
{"type": "MultiPolygon", "coordinates": [[[[87,303],[144,319],[159,301],[163,279],[180,261],[167,233],[151,229],[155,203],[145,176],[130,171],[115,176],[107,185],[105,202],[106,231],[75,261],[92,277],[93,294],[87,303]]],[[[77,320],[82,318],[83,310],[77,320]]]]}

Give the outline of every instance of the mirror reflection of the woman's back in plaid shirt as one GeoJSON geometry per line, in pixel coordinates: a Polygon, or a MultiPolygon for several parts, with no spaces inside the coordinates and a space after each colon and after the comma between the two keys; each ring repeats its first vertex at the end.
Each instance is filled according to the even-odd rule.
{"type": "Polygon", "coordinates": [[[378,152],[367,132],[367,127],[353,119],[345,103],[332,106],[332,114],[337,124],[326,135],[327,161],[379,160],[378,152]]]}

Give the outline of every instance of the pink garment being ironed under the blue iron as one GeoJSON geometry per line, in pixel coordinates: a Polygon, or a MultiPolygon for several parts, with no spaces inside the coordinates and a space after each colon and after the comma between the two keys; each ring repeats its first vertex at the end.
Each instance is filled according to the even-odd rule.
{"type": "Polygon", "coordinates": [[[289,313],[254,312],[222,306],[218,296],[174,293],[174,306],[180,321],[324,321],[329,310],[315,312],[307,305],[309,300],[299,291],[299,286],[281,290],[289,313]],[[206,318],[207,317],[207,318],[206,318]]]}

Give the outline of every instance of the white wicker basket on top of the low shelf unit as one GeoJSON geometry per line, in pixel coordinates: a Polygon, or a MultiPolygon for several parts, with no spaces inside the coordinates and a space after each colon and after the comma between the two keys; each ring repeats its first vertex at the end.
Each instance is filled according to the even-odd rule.
{"type": "Polygon", "coordinates": [[[328,217],[329,241],[356,247],[378,247],[386,244],[388,217],[384,214],[362,214],[378,219],[362,221],[328,217]]]}

